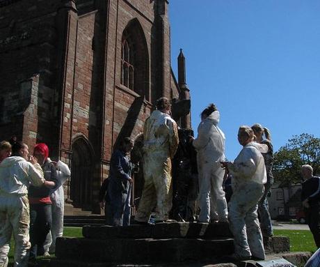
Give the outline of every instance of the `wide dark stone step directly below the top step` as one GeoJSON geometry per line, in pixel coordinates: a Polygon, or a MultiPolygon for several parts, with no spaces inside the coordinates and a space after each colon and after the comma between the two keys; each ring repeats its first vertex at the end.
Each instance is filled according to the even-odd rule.
{"type": "Polygon", "coordinates": [[[218,255],[232,254],[233,240],[226,239],[129,239],[58,238],[56,257],[108,263],[168,263],[211,261],[218,255]]]}

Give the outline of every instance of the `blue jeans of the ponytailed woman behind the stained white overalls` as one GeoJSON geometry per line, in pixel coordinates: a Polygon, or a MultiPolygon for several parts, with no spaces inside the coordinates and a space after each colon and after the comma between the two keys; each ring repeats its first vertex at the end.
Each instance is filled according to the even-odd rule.
{"type": "Polygon", "coordinates": [[[267,195],[270,192],[270,188],[273,181],[267,181],[264,185],[264,194],[258,203],[258,213],[260,219],[260,227],[263,236],[273,236],[272,222],[269,213],[269,204],[267,195]]]}

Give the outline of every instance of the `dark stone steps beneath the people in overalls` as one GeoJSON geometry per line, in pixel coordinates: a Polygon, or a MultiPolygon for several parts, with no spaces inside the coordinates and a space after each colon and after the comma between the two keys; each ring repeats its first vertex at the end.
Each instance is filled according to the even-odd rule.
{"type": "MultiPolygon", "coordinates": [[[[227,223],[166,222],[129,227],[85,226],[83,238],[58,238],[52,267],[221,263],[234,252],[227,223]]],[[[289,251],[289,239],[264,240],[266,253],[289,251]]],[[[187,264],[189,265],[189,264],[187,264]]]]}

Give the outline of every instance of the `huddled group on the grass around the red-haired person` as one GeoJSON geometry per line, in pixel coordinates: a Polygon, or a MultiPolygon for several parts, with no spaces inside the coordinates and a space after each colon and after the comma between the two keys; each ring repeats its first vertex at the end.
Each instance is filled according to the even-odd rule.
{"type": "Polygon", "coordinates": [[[0,143],[0,266],[8,265],[13,234],[14,266],[28,266],[38,255],[54,253],[63,235],[63,183],[70,176],[65,163],[51,161],[46,144],[29,147],[0,143]]]}

